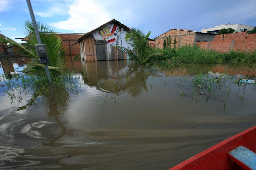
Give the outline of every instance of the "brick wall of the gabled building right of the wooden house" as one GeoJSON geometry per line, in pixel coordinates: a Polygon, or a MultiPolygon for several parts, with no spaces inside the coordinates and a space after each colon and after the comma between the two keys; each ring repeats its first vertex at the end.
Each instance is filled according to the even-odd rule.
{"type": "MultiPolygon", "coordinates": [[[[195,42],[195,32],[190,32],[186,30],[170,30],[166,33],[156,37],[156,48],[164,48],[164,38],[170,37],[172,38],[172,43],[174,42],[174,38],[176,38],[176,47],[183,45],[194,45],[195,42]],[[179,45],[180,42],[180,45],[179,45]]],[[[173,45],[172,45],[173,47],[173,45]]]]}

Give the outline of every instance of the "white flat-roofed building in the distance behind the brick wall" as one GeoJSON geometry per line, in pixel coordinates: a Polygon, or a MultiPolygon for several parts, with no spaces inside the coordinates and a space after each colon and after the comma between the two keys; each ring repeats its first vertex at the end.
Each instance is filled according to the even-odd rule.
{"type": "Polygon", "coordinates": [[[201,32],[203,33],[219,33],[220,29],[223,28],[233,28],[235,30],[235,33],[238,32],[245,32],[246,30],[252,30],[253,26],[246,26],[243,24],[224,24],[220,26],[215,26],[213,28],[206,28],[206,29],[201,29],[201,32]]]}

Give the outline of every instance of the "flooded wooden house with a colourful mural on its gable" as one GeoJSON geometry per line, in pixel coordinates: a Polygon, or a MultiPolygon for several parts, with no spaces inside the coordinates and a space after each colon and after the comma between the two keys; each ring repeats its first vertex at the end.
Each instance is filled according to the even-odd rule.
{"type": "Polygon", "coordinates": [[[85,33],[79,37],[80,55],[84,61],[101,60],[126,60],[129,56],[116,46],[125,47],[133,50],[129,45],[131,40],[125,38],[128,26],[125,26],[116,19],[85,33]]]}

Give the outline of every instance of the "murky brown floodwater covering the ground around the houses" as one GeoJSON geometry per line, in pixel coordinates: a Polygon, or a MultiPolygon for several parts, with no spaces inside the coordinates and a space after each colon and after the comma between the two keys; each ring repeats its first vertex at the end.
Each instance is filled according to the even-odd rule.
{"type": "MultiPolygon", "coordinates": [[[[0,74],[29,62],[1,59],[0,74]]],[[[33,91],[11,102],[1,79],[1,169],[168,169],[256,121],[255,85],[232,84],[214,89],[213,97],[200,91],[191,98],[190,81],[222,72],[255,77],[253,68],[68,59],[67,69],[75,71],[78,92],[53,86],[33,104],[33,91]]]]}

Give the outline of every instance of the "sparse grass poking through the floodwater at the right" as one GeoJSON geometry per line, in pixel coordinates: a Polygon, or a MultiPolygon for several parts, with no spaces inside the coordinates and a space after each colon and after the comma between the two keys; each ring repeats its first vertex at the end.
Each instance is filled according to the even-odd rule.
{"type": "MultiPolygon", "coordinates": [[[[223,102],[225,110],[230,92],[235,92],[237,98],[241,99],[241,102],[243,102],[246,93],[245,89],[249,84],[242,83],[240,80],[241,78],[236,78],[233,75],[226,75],[225,73],[222,73],[219,76],[199,73],[189,78],[179,79],[179,83],[176,84],[176,86],[185,87],[182,91],[180,89],[178,90],[180,90],[181,96],[188,96],[191,98],[190,103],[194,99],[197,103],[199,99],[204,99],[205,102],[207,102],[209,98],[212,98],[223,102]]],[[[253,91],[256,90],[255,84],[250,84],[250,87],[253,91]]]]}

